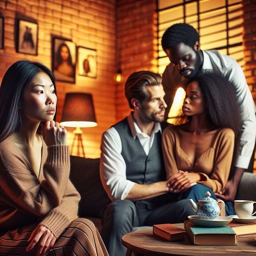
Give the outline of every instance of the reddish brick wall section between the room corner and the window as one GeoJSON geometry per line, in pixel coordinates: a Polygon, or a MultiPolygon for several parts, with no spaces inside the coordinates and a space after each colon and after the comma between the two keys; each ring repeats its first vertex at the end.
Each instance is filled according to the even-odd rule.
{"type": "Polygon", "coordinates": [[[116,1],[117,62],[120,60],[123,82],[116,87],[116,119],[130,112],[124,96],[124,81],[140,70],[158,72],[157,14],[155,0],[116,1]]]}

